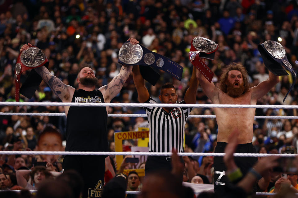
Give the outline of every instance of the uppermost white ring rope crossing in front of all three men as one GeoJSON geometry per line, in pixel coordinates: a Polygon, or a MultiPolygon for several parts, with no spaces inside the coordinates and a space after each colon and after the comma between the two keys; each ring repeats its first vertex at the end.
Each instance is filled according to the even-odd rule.
{"type": "Polygon", "coordinates": [[[192,107],[192,108],[260,108],[298,109],[298,105],[219,105],[219,104],[160,104],[160,103],[80,103],[80,102],[0,102],[0,106],[110,106],[110,107],[192,107]]]}

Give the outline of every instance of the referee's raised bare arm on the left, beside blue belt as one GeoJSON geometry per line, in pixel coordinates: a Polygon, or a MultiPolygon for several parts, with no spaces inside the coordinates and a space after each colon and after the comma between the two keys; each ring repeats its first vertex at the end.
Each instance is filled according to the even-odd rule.
{"type": "Polygon", "coordinates": [[[141,75],[140,67],[138,65],[133,67],[133,82],[138,92],[139,102],[146,102],[149,99],[150,95],[145,86],[144,78],[141,75]]]}

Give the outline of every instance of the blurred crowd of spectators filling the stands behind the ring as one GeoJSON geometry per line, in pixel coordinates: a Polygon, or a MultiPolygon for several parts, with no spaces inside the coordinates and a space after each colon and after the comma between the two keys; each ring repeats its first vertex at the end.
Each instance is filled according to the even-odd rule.
{"type": "MultiPolygon", "coordinates": [[[[267,40],[279,41],[284,46],[287,58],[298,73],[298,6],[295,0],[6,0],[0,4],[0,13],[0,101],[15,101],[13,74],[19,49],[26,43],[42,49],[49,59],[49,71],[75,88],[79,66],[92,65],[99,88],[119,73],[119,49],[128,38],[134,37],[149,50],[184,67],[181,82],[160,71],[161,78],[156,86],[147,83],[156,101],[159,101],[161,85],[166,82],[174,84],[178,102],[183,100],[192,72],[188,52],[196,36],[219,44],[214,60],[206,60],[215,73],[215,84],[221,69],[231,62],[240,62],[246,67],[251,87],[266,80],[268,70],[257,45],[267,40]]],[[[28,73],[23,73],[21,83],[28,73]]],[[[258,105],[297,105],[298,81],[291,75],[280,78],[280,83],[261,98],[258,105]],[[296,80],[295,87],[282,102],[293,80],[296,80]]],[[[196,99],[197,104],[211,104],[200,86],[196,99]]],[[[61,102],[45,82],[40,84],[34,97],[27,99],[21,95],[20,101],[61,102]]],[[[132,76],[112,102],[138,102],[132,76]]],[[[0,110],[64,113],[63,107],[56,106],[0,106],[0,110]]],[[[145,114],[145,111],[110,107],[109,113],[145,114]]],[[[214,111],[196,108],[191,114],[214,115],[214,111]]],[[[297,110],[256,109],[256,115],[297,116],[297,110]]],[[[134,131],[144,126],[147,120],[143,117],[109,117],[110,150],[115,150],[114,132],[134,131]]],[[[0,149],[64,151],[65,130],[65,116],[1,115],[0,149]],[[42,139],[39,135],[45,127],[52,127],[61,135],[56,136],[58,143],[53,144],[56,147],[38,145],[42,139]]],[[[185,132],[185,152],[213,152],[217,136],[215,118],[188,118],[185,132]]],[[[126,144],[131,146],[129,142],[126,144]]],[[[297,149],[298,120],[255,119],[253,144],[259,153],[282,153],[286,146],[297,149]]],[[[14,165],[18,157],[2,155],[2,169],[7,163],[14,165]]],[[[51,170],[61,171],[61,157],[39,157],[40,161],[47,160],[55,165],[51,170]]],[[[22,165],[32,166],[29,156],[22,156],[22,159],[25,161],[22,165]]],[[[190,158],[190,161],[197,173],[206,176],[204,183],[213,181],[212,158],[190,158]]],[[[192,178],[187,178],[187,170],[185,176],[185,181],[190,182],[192,178]]]]}

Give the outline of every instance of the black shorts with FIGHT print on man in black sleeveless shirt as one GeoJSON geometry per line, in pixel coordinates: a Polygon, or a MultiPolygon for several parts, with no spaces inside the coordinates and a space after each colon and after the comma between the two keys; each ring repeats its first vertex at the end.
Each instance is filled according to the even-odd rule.
{"type": "Polygon", "coordinates": [[[76,170],[83,178],[82,198],[101,197],[105,179],[105,157],[88,155],[64,157],[64,171],[76,170]]]}

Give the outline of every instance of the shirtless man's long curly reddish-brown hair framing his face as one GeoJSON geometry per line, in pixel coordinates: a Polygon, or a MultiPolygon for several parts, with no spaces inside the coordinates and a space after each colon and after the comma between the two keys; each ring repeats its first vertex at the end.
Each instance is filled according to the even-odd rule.
{"type": "Polygon", "coordinates": [[[248,78],[248,73],[245,69],[245,67],[239,63],[233,62],[231,64],[228,64],[227,67],[223,69],[223,73],[219,78],[219,87],[220,89],[224,92],[227,93],[227,87],[228,85],[226,82],[228,81],[228,73],[231,70],[238,70],[241,72],[242,77],[243,77],[243,86],[244,86],[244,91],[243,93],[246,93],[247,90],[250,88],[249,86],[249,78],[248,78]]]}

